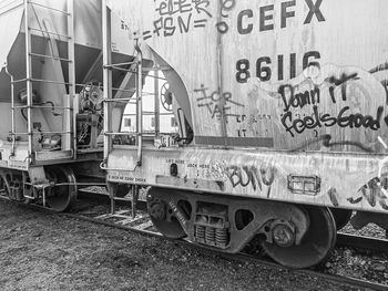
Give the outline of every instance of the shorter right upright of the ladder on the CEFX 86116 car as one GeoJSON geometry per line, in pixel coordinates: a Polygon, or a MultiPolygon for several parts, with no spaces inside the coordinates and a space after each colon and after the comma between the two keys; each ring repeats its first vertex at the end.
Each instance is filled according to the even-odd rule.
{"type": "Polygon", "coordinates": [[[136,40],[135,49],[137,52],[137,77],[136,77],[136,144],[137,144],[137,166],[142,166],[142,150],[143,150],[143,53],[136,40]]]}

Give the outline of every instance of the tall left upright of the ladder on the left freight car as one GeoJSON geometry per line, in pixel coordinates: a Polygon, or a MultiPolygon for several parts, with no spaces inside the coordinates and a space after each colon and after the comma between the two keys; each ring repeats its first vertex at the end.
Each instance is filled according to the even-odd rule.
{"type": "Polygon", "coordinates": [[[29,163],[31,163],[33,153],[33,132],[32,132],[32,70],[31,70],[31,34],[29,27],[30,2],[24,0],[24,30],[25,30],[25,86],[27,86],[27,133],[29,144],[29,163]]]}

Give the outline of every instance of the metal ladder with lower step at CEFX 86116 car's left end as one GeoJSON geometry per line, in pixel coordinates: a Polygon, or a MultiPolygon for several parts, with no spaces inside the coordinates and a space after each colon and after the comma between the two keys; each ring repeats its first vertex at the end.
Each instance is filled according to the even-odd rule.
{"type": "MultiPolygon", "coordinates": [[[[101,168],[104,170],[122,170],[122,172],[134,172],[137,167],[142,166],[142,155],[143,155],[143,137],[145,133],[143,131],[143,115],[150,114],[143,111],[143,97],[146,93],[143,92],[143,75],[150,69],[143,67],[143,52],[139,45],[139,42],[135,43],[135,58],[131,62],[125,63],[112,63],[112,40],[111,40],[111,23],[110,23],[110,11],[106,6],[106,0],[102,0],[102,39],[103,39],[103,94],[104,94],[104,160],[101,163],[101,168]],[[130,67],[130,69],[129,69],[130,67]],[[112,72],[121,71],[125,72],[130,77],[132,74],[135,75],[135,89],[114,89],[112,85],[112,72]],[[113,95],[113,91],[116,92],[116,95],[113,95]],[[136,98],[132,96],[122,97],[123,94],[135,94],[136,98]],[[136,132],[113,132],[112,126],[112,110],[115,103],[124,104],[135,104],[136,105],[136,132]],[[108,157],[113,149],[113,137],[114,136],[132,136],[136,135],[136,150],[137,159],[133,168],[110,168],[108,167],[108,157]]],[[[154,70],[154,69],[151,69],[154,70]]],[[[159,110],[157,110],[159,111],[159,110]]],[[[155,110],[155,117],[159,112],[155,110]]],[[[155,136],[159,135],[159,131],[155,131],[155,136]]],[[[114,186],[108,183],[108,189],[111,198],[111,214],[115,214],[115,200],[122,200],[114,197],[114,186]],[[111,187],[112,186],[112,187],[111,187]]],[[[140,187],[137,185],[132,185],[132,217],[136,216],[136,202],[139,199],[140,187]]]]}

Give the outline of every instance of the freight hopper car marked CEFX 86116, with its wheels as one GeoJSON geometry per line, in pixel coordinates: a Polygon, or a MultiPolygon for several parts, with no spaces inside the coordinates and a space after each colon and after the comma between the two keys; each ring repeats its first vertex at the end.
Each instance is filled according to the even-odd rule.
{"type": "Polygon", "coordinates": [[[164,236],[226,252],[258,237],[294,268],[321,262],[353,211],[356,228],[387,230],[387,12],[386,0],[103,1],[111,194],[151,186],[164,236]],[[116,29],[134,62],[112,60],[116,29]],[[112,74],[125,70],[137,77],[135,145],[114,142],[130,98],[113,95],[112,74]],[[150,70],[170,84],[172,143],[142,131],[150,70]]]}

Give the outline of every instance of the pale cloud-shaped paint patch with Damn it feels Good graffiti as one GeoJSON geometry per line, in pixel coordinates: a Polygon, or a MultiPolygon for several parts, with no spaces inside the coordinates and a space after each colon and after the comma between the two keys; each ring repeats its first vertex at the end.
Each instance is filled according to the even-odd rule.
{"type": "MultiPolygon", "coordinates": [[[[267,104],[266,113],[273,121],[270,128],[287,134],[285,141],[300,141],[288,148],[292,150],[319,143],[325,147],[355,146],[374,152],[379,132],[388,125],[386,89],[361,69],[309,64],[287,84],[262,82],[257,77],[249,81],[247,90],[251,104],[246,106],[248,112],[237,117],[239,131],[248,128],[245,132],[255,133],[252,116],[263,115],[263,110],[257,113],[257,106],[267,104]],[[347,133],[340,141],[338,131],[347,133]]],[[[262,133],[263,125],[256,125],[262,133]]]]}

